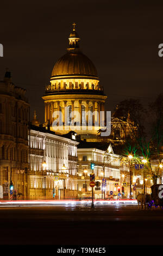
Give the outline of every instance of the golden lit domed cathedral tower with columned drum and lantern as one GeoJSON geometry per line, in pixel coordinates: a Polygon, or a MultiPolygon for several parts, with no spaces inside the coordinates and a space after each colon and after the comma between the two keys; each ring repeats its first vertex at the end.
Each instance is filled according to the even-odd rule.
{"type": "MultiPolygon", "coordinates": [[[[97,70],[79,47],[80,38],[73,23],[66,54],[54,65],[45,101],[45,126],[62,135],[71,130],[82,139],[96,139],[101,129],[100,112],[106,96],[97,70]]],[[[102,115],[102,114],[101,114],[102,115]]]]}

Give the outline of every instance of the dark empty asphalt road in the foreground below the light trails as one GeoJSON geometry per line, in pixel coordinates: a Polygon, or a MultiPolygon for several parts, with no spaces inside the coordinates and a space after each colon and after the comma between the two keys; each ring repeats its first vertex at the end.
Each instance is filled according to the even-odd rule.
{"type": "Polygon", "coordinates": [[[0,207],[0,245],[162,245],[163,210],[137,205],[0,207]]]}

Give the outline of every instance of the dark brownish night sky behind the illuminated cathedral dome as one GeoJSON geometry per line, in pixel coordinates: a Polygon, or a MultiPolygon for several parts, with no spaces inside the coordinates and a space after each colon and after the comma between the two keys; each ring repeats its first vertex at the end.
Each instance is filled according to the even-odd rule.
{"type": "Polygon", "coordinates": [[[127,98],[147,105],[162,93],[163,2],[161,1],[1,1],[0,79],[9,68],[12,82],[27,89],[40,121],[41,96],[55,62],[65,54],[72,23],[83,53],[95,64],[106,109],[127,98]]]}

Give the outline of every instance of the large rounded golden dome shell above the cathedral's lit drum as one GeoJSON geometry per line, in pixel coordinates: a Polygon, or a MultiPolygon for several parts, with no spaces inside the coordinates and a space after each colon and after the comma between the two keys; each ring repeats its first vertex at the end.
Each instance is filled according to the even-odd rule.
{"type": "Polygon", "coordinates": [[[52,71],[52,77],[67,75],[98,77],[97,70],[91,60],[80,51],[68,51],[55,64],[52,71]]]}

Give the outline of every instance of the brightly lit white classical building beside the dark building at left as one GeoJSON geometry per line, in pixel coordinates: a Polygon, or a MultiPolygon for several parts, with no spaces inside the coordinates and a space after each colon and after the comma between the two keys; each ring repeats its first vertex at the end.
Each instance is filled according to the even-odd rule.
{"type": "Polygon", "coordinates": [[[77,145],[74,132],[64,137],[30,126],[30,199],[77,198],[77,145]]]}

